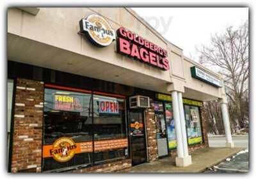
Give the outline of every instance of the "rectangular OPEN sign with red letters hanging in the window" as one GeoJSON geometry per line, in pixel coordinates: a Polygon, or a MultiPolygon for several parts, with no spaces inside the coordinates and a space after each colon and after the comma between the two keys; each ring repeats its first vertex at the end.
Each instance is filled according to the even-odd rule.
{"type": "Polygon", "coordinates": [[[99,113],[118,114],[118,101],[99,101],[99,113]]]}

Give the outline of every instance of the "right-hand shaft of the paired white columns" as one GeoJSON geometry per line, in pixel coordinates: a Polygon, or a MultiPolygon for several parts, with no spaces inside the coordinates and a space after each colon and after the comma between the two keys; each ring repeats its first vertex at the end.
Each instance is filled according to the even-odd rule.
{"type": "Polygon", "coordinates": [[[186,121],[184,117],[184,108],[183,108],[183,101],[182,101],[182,93],[178,93],[178,100],[179,100],[179,109],[180,109],[180,126],[182,132],[182,141],[183,141],[183,151],[184,157],[188,156],[188,139],[186,133],[186,121]]]}

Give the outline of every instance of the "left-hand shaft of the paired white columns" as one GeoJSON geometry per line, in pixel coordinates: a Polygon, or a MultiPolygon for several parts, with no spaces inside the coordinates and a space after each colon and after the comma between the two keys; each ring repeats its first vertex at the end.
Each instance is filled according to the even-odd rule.
{"type": "Polygon", "coordinates": [[[176,140],[177,140],[177,154],[178,154],[178,158],[184,158],[184,151],[182,146],[182,132],[180,128],[179,100],[178,100],[177,91],[172,91],[172,106],[173,106],[173,118],[174,118],[176,140]]]}

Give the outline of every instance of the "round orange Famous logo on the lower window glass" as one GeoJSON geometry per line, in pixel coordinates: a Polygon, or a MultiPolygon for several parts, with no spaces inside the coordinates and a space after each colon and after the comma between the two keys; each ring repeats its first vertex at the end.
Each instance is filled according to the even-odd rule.
{"type": "Polygon", "coordinates": [[[64,163],[76,154],[76,143],[68,137],[61,137],[55,140],[50,151],[54,160],[64,163]]]}

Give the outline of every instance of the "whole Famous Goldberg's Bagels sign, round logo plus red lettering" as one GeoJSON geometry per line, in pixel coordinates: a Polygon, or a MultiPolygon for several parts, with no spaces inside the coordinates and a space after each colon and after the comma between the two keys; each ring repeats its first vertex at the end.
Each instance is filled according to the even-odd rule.
{"type": "Polygon", "coordinates": [[[86,35],[93,45],[106,47],[116,39],[116,52],[138,61],[149,64],[161,70],[169,70],[167,50],[138,36],[138,34],[120,27],[116,33],[108,21],[99,15],[89,15],[79,22],[80,33],[86,35]]]}

